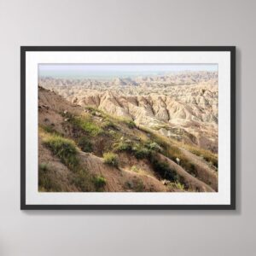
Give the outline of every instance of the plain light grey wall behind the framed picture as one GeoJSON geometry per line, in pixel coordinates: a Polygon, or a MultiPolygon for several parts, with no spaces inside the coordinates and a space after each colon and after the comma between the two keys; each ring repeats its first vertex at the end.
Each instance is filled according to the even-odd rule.
{"type": "Polygon", "coordinates": [[[0,255],[255,255],[255,9],[249,0],[0,0],[0,255]],[[20,45],[236,45],[236,212],[21,212],[20,45]]]}

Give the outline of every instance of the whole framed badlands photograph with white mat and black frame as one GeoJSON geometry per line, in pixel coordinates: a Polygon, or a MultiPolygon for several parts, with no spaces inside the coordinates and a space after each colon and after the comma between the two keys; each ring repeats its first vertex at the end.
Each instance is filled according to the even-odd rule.
{"type": "Polygon", "coordinates": [[[22,46],[21,209],[236,209],[236,48],[22,46]]]}

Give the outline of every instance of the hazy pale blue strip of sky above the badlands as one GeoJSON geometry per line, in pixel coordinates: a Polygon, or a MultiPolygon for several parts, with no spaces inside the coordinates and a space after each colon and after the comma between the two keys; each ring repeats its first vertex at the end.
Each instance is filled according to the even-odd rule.
{"type": "Polygon", "coordinates": [[[39,77],[97,78],[158,75],[182,71],[218,71],[217,64],[39,64],[39,77]]]}

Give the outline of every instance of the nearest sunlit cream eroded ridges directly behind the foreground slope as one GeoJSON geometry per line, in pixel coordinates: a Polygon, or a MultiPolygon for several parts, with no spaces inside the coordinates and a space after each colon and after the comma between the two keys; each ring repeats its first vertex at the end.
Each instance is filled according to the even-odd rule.
{"type": "Polygon", "coordinates": [[[88,91],[86,95],[71,96],[70,100],[217,153],[218,92],[206,86],[176,90],[176,96],[119,96],[114,91],[88,91]]]}

